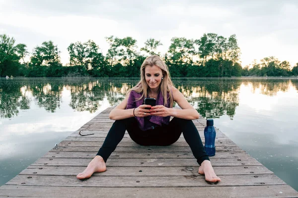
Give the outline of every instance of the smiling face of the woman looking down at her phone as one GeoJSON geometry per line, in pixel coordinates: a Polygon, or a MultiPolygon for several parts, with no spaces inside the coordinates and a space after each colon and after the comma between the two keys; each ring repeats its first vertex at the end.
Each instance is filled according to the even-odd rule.
{"type": "Polygon", "coordinates": [[[152,91],[157,91],[161,82],[162,70],[156,66],[146,66],[145,79],[152,91]]]}

